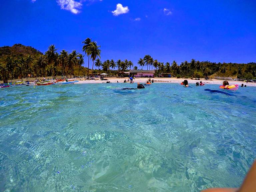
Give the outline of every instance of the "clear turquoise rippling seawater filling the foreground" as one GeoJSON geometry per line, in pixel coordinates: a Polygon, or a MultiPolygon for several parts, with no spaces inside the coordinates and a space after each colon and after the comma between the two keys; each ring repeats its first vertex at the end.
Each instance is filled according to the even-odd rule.
{"type": "Polygon", "coordinates": [[[0,89],[0,191],[238,187],[256,157],[255,87],[0,89]]]}

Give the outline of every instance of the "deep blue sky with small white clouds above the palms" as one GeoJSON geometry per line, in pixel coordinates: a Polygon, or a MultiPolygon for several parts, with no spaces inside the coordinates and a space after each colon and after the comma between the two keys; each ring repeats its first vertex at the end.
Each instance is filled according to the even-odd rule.
{"type": "Polygon", "coordinates": [[[90,37],[103,61],[256,62],[255,0],[1,0],[0,12],[0,46],[81,52],[90,37]]]}

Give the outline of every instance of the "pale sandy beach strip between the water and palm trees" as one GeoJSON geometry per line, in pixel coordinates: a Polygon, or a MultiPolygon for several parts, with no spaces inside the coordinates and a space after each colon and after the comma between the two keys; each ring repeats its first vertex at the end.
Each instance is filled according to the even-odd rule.
{"type": "MultiPolygon", "coordinates": [[[[106,83],[107,81],[110,81],[111,83],[117,83],[117,81],[119,83],[123,83],[124,80],[128,78],[116,78],[116,77],[110,77],[110,78],[107,78],[108,80],[104,80],[104,81],[101,81],[101,80],[85,80],[85,81],[79,81],[75,84],[82,84],[82,83],[106,83]]],[[[154,79],[154,83],[181,83],[182,81],[184,81],[183,78],[180,78],[180,79],[176,79],[176,78],[161,78],[161,77],[158,77],[158,78],[151,78],[151,80],[154,79]]],[[[148,80],[148,78],[135,78],[135,82],[134,83],[146,83],[148,80]]],[[[188,80],[188,84],[192,84],[192,85],[195,85],[196,82],[200,82],[202,81],[203,83],[205,83],[206,85],[207,84],[215,84],[215,85],[222,85],[222,82],[223,80],[217,80],[217,79],[211,79],[211,80],[192,80],[192,79],[187,79],[188,80]]],[[[233,84],[238,84],[239,86],[241,86],[241,84],[243,83],[244,85],[247,85],[247,86],[253,86],[253,87],[256,87],[256,83],[247,83],[246,82],[242,82],[242,81],[228,81],[229,82],[229,85],[233,85],[233,84]]],[[[127,83],[130,83],[127,81],[127,83]]]]}

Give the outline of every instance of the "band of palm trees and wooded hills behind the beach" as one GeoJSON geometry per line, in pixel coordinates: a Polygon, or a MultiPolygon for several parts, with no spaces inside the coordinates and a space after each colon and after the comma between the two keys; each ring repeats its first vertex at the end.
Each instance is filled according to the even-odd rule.
{"type": "MultiPolygon", "coordinates": [[[[84,45],[82,51],[88,56],[88,67],[84,65],[84,55],[76,50],[68,53],[65,50],[57,52],[54,45],[49,46],[45,54],[40,51],[21,44],[15,44],[12,47],[0,47],[0,79],[5,82],[7,79],[18,79],[28,76],[86,76],[96,73],[117,74],[118,70],[128,70],[134,65],[131,61],[125,60],[100,60],[100,46],[95,41],[87,38],[82,42],[84,45]],[[92,61],[92,69],[89,69],[89,62],[92,61]],[[93,70],[93,67],[96,70],[93,70]]],[[[133,69],[154,69],[155,76],[161,73],[169,73],[176,77],[199,77],[215,74],[222,77],[237,77],[253,79],[256,77],[256,63],[248,64],[238,63],[213,63],[209,61],[184,61],[180,65],[174,60],[172,63],[159,62],[150,55],[145,55],[137,62],[138,66],[133,69]]]]}

